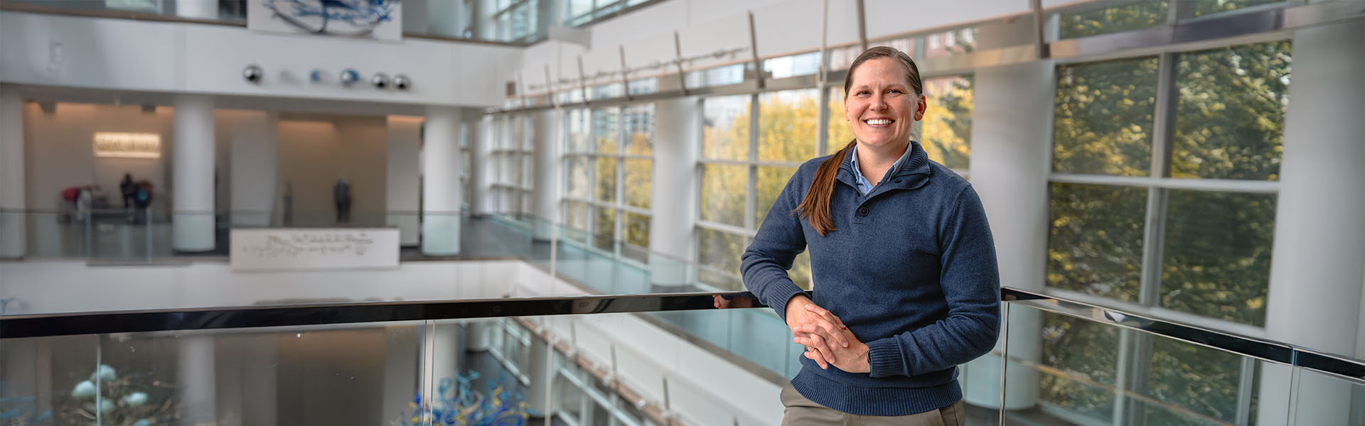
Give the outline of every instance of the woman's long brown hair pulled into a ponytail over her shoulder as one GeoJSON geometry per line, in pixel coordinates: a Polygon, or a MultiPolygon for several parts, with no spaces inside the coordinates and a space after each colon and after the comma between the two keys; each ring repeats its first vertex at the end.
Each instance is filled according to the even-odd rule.
{"type": "MultiPolygon", "coordinates": [[[[915,66],[915,60],[909,55],[895,48],[875,46],[864,51],[849,66],[849,72],[844,75],[845,98],[849,96],[849,87],[853,86],[853,71],[863,63],[878,57],[894,57],[900,60],[905,66],[905,76],[910,82],[915,96],[919,97],[924,93],[924,83],[920,81],[920,68],[915,66]]],[[[824,236],[830,231],[837,231],[834,229],[834,218],[830,217],[830,195],[834,194],[834,178],[839,172],[839,165],[844,164],[844,158],[848,157],[849,150],[854,145],[857,145],[857,139],[849,141],[844,149],[839,149],[833,157],[820,162],[820,167],[815,169],[811,190],[805,191],[805,199],[796,209],[792,209],[792,214],[800,214],[803,220],[809,221],[811,228],[815,228],[815,232],[820,233],[820,236],[824,236]]]]}

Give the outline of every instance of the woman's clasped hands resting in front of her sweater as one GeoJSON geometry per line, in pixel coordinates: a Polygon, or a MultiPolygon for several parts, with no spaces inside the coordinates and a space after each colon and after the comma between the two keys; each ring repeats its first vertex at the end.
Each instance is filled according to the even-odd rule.
{"type": "MultiPolygon", "coordinates": [[[[717,309],[751,307],[753,300],[734,298],[726,300],[714,296],[717,309]]],[[[805,347],[805,358],[815,360],[820,369],[834,365],[849,373],[868,373],[867,344],[857,340],[839,317],[815,304],[805,295],[792,296],[786,302],[786,326],[796,336],[792,341],[805,347]]]]}

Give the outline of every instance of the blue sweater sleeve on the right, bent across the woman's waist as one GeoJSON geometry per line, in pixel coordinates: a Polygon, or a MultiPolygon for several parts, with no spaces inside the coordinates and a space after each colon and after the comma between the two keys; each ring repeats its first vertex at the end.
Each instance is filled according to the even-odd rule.
{"type": "Polygon", "coordinates": [[[1001,273],[986,209],[971,186],[942,228],[939,285],[947,315],[927,326],[867,343],[872,377],[946,370],[986,355],[999,337],[1001,273]]]}

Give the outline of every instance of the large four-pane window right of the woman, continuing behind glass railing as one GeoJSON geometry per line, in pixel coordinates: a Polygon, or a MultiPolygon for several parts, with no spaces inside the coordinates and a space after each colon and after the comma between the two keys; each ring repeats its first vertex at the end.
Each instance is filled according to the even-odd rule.
{"type": "MultiPolygon", "coordinates": [[[[1058,67],[1047,284],[1264,325],[1290,53],[1269,41],[1058,67]]],[[[1046,377],[1048,403],[1134,425],[1254,415],[1256,363],[1137,333],[1115,350],[1132,332],[1089,328],[1044,318],[1044,365],[1091,374],[1046,377]],[[1160,403],[1117,401],[1103,388],[1121,373],[1160,403]]]]}

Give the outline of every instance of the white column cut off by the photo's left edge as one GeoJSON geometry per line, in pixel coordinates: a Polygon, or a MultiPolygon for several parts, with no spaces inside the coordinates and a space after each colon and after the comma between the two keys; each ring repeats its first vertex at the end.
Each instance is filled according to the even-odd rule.
{"type": "Polygon", "coordinates": [[[0,258],[25,253],[23,167],[23,100],[14,86],[0,85],[0,258]]]}

